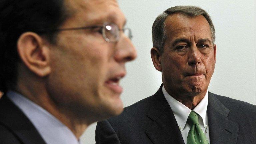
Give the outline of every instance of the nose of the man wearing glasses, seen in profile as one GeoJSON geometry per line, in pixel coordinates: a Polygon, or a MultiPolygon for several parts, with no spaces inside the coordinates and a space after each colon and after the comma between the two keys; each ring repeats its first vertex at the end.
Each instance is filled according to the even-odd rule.
{"type": "Polygon", "coordinates": [[[132,61],[137,57],[136,49],[133,46],[131,40],[124,35],[120,37],[116,47],[117,50],[114,58],[118,62],[132,61]]]}

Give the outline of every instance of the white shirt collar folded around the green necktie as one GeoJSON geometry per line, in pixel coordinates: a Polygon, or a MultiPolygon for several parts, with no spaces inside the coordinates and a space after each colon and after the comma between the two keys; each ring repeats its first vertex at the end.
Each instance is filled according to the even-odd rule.
{"type": "MultiPolygon", "coordinates": [[[[173,111],[173,114],[175,116],[175,119],[178,123],[180,130],[183,130],[186,125],[188,116],[191,112],[191,109],[189,109],[188,107],[183,105],[181,102],[177,101],[172,96],[170,96],[168,92],[165,90],[164,86],[162,88],[162,91],[165,99],[167,100],[168,104],[170,105],[173,111]]],[[[208,106],[208,91],[206,92],[206,95],[204,96],[204,98],[193,110],[202,117],[205,128],[206,128],[207,106],[208,106]]]]}

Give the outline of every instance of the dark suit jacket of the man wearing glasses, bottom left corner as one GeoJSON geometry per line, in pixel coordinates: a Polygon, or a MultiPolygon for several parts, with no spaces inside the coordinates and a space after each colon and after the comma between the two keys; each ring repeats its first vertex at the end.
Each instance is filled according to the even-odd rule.
{"type": "Polygon", "coordinates": [[[0,99],[0,144],[46,144],[29,119],[6,95],[0,99]]]}

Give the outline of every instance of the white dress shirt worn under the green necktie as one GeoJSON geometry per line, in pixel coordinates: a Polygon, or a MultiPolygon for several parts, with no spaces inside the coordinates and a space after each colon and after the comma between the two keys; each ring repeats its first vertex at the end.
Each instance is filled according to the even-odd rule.
{"type": "MultiPolygon", "coordinates": [[[[181,102],[174,99],[172,96],[170,96],[167,91],[165,90],[164,86],[162,88],[162,91],[164,93],[164,97],[167,100],[168,104],[170,105],[173,114],[175,116],[175,119],[178,123],[178,126],[180,128],[181,135],[183,137],[183,140],[185,144],[187,143],[187,136],[188,132],[190,130],[190,125],[187,124],[188,116],[191,112],[191,109],[183,105],[181,102]]],[[[208,91],[206,92],[206,95],[201,100],[201,102],[193,109],[199,116],[198,116],[198,122],[199,126],[203,130],[209,144],[210,144],[210,138],[209,138],[209,128],[208,128],[208,117],[207,117],[207,106],[208,106],[208,91]]]]}

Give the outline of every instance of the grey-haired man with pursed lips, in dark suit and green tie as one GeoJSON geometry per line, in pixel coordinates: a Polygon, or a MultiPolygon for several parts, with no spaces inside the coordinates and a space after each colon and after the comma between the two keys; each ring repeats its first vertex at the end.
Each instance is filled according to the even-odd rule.
{"type": "Polygon", "coordinates": [[[159,90],[98,122],[97,144],[252,144],[255,105],[207,91],[216,62],[215,29],[199,7],[176,6],[152,28],[159,90]]]}

